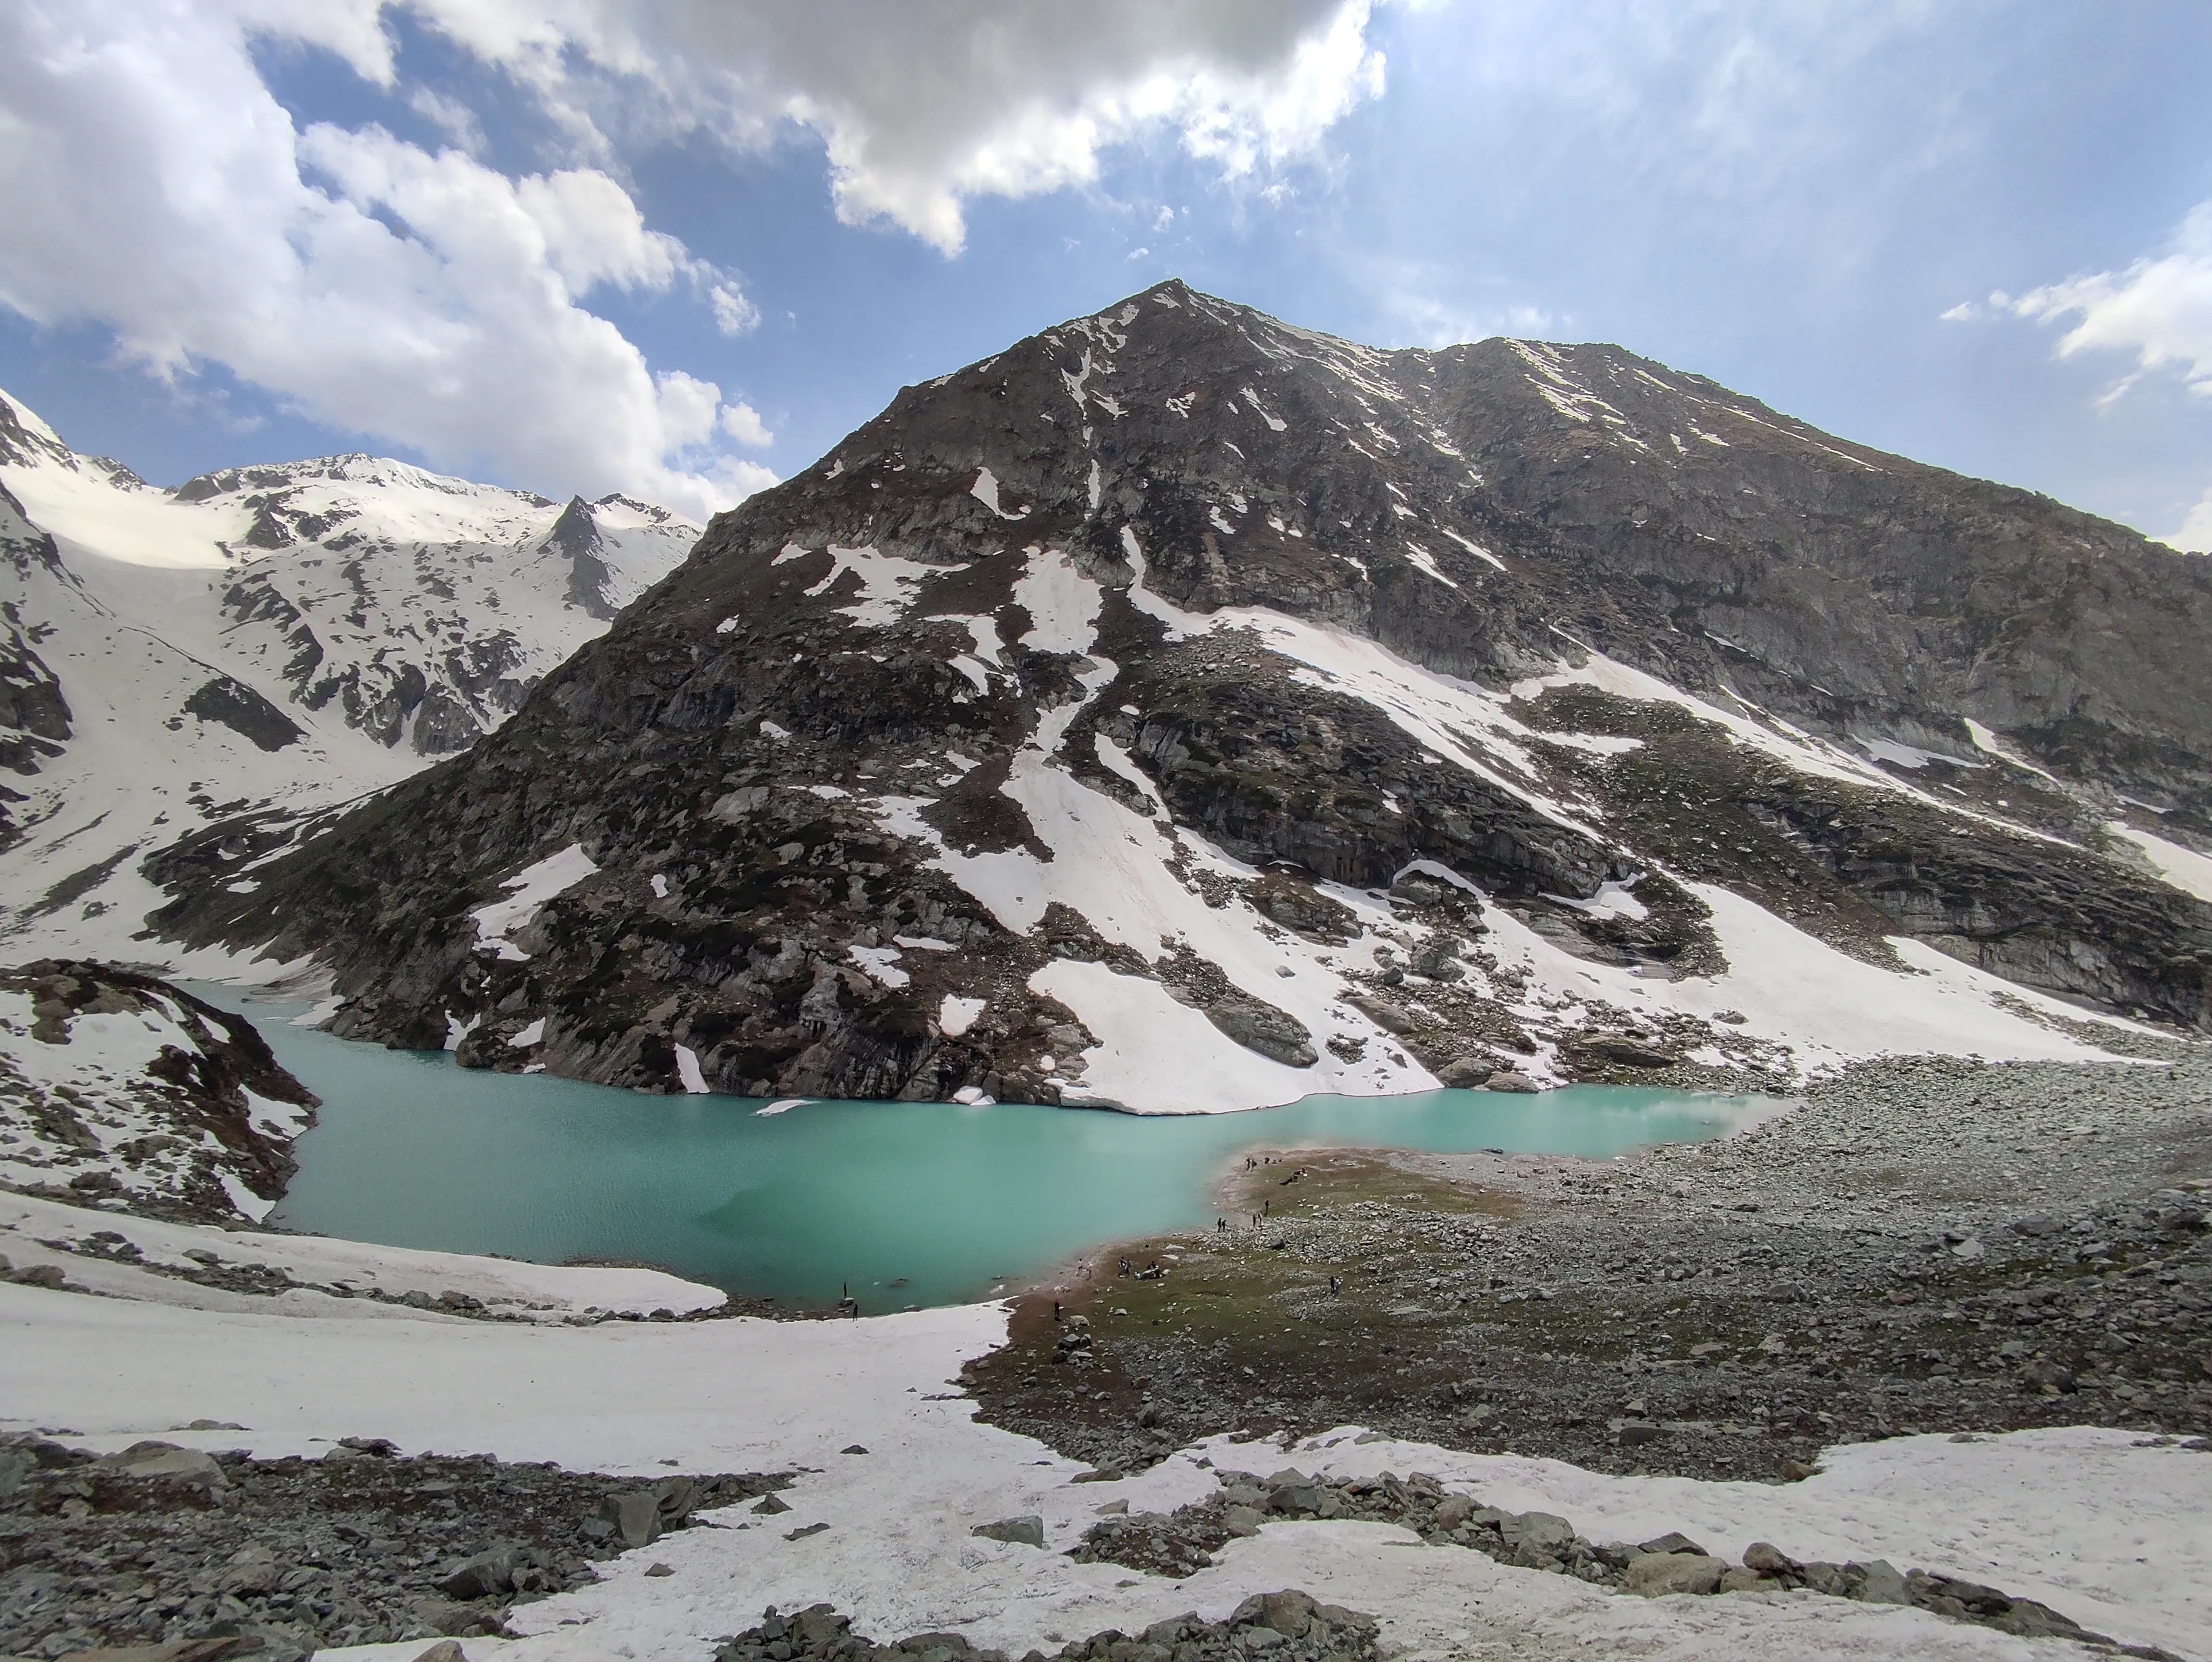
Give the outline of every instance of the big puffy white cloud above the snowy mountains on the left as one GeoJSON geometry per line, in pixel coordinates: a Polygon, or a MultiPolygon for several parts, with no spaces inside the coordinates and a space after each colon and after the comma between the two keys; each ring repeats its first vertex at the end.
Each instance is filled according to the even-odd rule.
{"type": "Polygon", "coordinates": [[[221,363],[316,420],[549,494],[703,516],[772,482],[714,454],[719,394],[582,305],[730,281],[588,168],[509,179],[383,128],[294,128],[250,29],[392,64],[369,0],[0,7],[0,301],[95,321],[175,376],[221,363]],[[380,55],[383,51],[383,55],[380,55]]]}

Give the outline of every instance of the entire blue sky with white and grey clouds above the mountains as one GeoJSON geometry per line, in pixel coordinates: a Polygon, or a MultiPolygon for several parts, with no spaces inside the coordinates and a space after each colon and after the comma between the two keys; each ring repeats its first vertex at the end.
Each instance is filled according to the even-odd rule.
{"type": "Polygon", "coordinates": [[[686,513],[1164,277],[2212,551],[2201,0],[9,0],[0,387],[686,513]]]}

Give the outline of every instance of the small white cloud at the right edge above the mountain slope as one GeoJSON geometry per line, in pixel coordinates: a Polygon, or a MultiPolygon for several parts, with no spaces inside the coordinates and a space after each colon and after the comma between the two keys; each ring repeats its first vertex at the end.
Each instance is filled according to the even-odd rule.
{"type": "MultiPolygon", "coordinates": [[[[2031,290],[2011,310],[2044,323],[2073,319],[2059,336],[2062,359],[2090,350],[2135,354],[2135,372],[2108,398],[2157,370],[2172,370],[2190,392],[2212,396],[2212,201],[2181,221],[2157,259],[2031,290]]],[[[2190,524],[2203,513],[2199,505],[2190,524]]]]}

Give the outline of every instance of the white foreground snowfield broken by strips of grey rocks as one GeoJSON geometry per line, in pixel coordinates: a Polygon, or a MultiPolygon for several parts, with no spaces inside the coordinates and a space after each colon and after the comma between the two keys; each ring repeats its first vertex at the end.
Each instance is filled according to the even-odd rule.
{"type": "MultiPolygon", "coordinates": [[[[108,1222],[108,1219],[102,1219],[108,1222]]],[[[144,1226],[124,1224],[137,1237],[144,1226]]],[[[234,1248],[239,1237],[208,1233],[234,1248]]],[[[254,1253],[265,1242],[254,1242],[254,1253]]],[[[429,1259],[319,1242],[365,1261],[429,1259]]],[[[445,1257],[491,1284],[566,1277],[568,1301],[617,1306],[630,1273],[445,1257]],[[597,1286],[604,1281],[604,1288],[597,1286]]],[[[175,1284],[170,1284],[175,1286],[175,1284]]],[[[327,1301],[336,1303],[336,1301],[327,1301]]],[[[2212,1655],[2212,1461],[2121,1432],[1898,1438],[1836,1450],[1796,1485],[1615,1478],[1553,1461],[1469,1456],[1356,1427],[1296,1447],[1210,1438],[1119,1483],[1073,1485],[1077,1465],[978,1425],[949,1396],[960,1365],[1004,1332],[1000,1306],[865,1321],[730,1319],[588,1328],[473,1323],[407,1308],[201,1310],[148,1297],[0,1286],[0,1403],[9,1427],[69,1427],[119,1450],[146,1436],[257,1454],[316,1454],[338,1436],[407,1452],[493,1452],[615,1474],[796,1469],[774,1525],[732,1509],[602,1567],[597,1587],[518,1607],[513,1642],[467,1640],[469,1658],[699,1658],[779,1609],[834,1602],[858,1631],[958,1629],[1020,1655],[1106,1627],[1137,1631],[1197,1609],[1221,1618],[1254,1591],[1303,1587],[1383,1618],[1411,1655],[2086,1655],[1951,1624],[1924,1611],[1814,1593],[1639,1600],[1526,1571],[1402,1529],[1270,1523],[1212,1569],[1175,1582],[1060,1556],[1097,1507],[1172,1509],[1212,1472],[1283,1465],[1332,1474],[1431,1472],[1513,1509],[1566,1516],[1590,1538],[1681,1529],[1717,1551],[1752,1540],[1814,1558],[1887,1558],[2033,1596],[2128,1642],[2212,1655]],[[148,1368],[146,1359],[159,1365],[148,1368]],[[246,1432],[177,1432],[228,1419],[246,1432]],[[865,1454],[847,1454],[852,1445],[865,1454]],[[1046,1551],[969,1529],[1037,1514],[1046,1551]],[[787,1527],[830,1525],[803,1540],[787,1527]],[[646,1580],[653,1562],[675,1573],[646,1580]]],[[[414,1658],[422,1642],[325,1651],[414,1658]]]]}

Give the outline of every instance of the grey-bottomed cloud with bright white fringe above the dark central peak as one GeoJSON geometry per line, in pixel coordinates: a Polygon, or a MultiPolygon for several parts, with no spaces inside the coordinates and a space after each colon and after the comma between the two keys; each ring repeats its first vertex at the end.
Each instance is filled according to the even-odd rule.
{"type": "Polygon", "coordinates": [[[962,204],[1099,175],[1150,133],[1228,177],[1312,155],[1383,91],[1369,0],[411,0],[535,89],[586,146],[708,133],[752,148],[785,122],[830,159],[838,217],[945,252],[962,204]]]}

